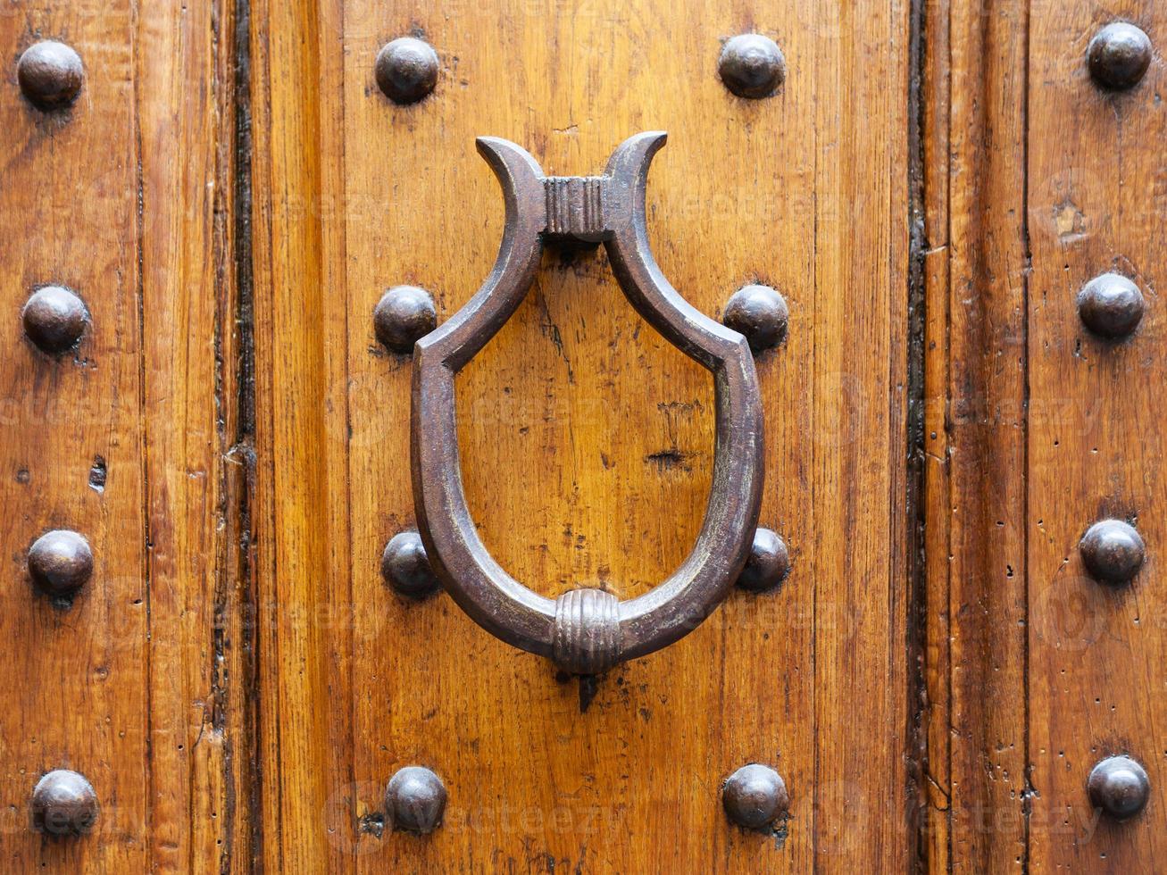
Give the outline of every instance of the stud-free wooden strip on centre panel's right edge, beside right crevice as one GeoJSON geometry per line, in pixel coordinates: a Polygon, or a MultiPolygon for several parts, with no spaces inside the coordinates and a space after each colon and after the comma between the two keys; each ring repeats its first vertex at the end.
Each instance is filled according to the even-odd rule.
{"type": "Polygon", "coordinates": [[[906,870],[909,8],[819,10],[816,862],[906,870]]]}

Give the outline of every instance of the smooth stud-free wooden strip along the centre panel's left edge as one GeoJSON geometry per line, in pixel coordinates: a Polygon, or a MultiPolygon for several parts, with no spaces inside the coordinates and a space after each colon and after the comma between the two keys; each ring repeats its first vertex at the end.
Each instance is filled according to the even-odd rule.
{"type": "Polygon", "coordinates": [[[342,16],[251,19],[259,859],[319,872],[354,828],[342,16]]]}

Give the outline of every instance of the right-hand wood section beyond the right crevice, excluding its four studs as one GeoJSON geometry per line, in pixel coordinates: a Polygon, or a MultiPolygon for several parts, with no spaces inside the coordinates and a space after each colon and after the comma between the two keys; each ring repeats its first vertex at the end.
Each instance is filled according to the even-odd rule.
{"type": "Polygon", "coordinates": [[[928,868],[1153,872],[1162,853],[1165,656],[1154,621],[1163,270],[1162,65],[1130,93],[1090,78],[1116,19],[1161,5],[924,7],[928,868]],[[1091,336],[1075,296],[1131,276],[1137,335],[1091,336]],[[1090,524],[1137,520],[1130,589],[1093,581],[1090,524]],[[1085,792],[1130,754],[1152,800],[1116,825],[1085,792]]]}

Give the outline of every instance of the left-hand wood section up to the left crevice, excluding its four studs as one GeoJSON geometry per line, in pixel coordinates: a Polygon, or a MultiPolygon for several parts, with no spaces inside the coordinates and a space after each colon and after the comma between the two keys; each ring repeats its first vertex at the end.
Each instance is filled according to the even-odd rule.
{"type": "Polygon", "coordinates": [[[229,5],[0,14],[13,64],[60,38],[86,74],[69,111],[33,108],[14,74],[0,98],[8,872],[226,872],[250,858],[224,360],[238,346],[232,27],[229,5]],[[58,359],[21,331],[20,307],[44,282],[77,289],[92,317],[58,359]],[[84,533],[96,556],[69,609],[34,596],[25,565],[56,526],[84,533]],[[83,840],[28,828],[33,785],[53,768],[98,793],[83,840]]]}

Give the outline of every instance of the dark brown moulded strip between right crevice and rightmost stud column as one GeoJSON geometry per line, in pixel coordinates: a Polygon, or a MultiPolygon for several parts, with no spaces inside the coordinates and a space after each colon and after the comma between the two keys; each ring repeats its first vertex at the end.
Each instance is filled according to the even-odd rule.
{"type": "Polygon", "coordinates": [[[925,15],[929,868],[1005,872],[1027,847],[1028,9],[925,15]]]}

